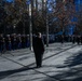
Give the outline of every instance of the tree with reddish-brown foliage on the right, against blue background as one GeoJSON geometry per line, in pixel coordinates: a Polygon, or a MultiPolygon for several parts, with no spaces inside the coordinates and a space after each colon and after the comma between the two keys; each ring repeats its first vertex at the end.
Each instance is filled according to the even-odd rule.
{"type": "Polygon", "coordinates": [[[71,22],[76,12],[74,4],[69,1],[65,3],[63,0],[59,0],[56,2],[56,6],[53,5],[52,8],[55,17],[54,23],[56,23],[58,28],[65,33],[65,27],[74,24],[71,22]]]}

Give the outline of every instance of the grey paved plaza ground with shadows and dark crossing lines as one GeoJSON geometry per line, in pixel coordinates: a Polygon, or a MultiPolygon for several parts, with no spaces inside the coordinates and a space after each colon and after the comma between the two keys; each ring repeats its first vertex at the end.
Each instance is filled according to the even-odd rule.
{"type": "Polygon", "coordinates": [[[0,81],[82,81],[82,45],[50,44],[43,66],[35,67],[35,54],[29,49],[3,54],[0,56],[0,81]]]}

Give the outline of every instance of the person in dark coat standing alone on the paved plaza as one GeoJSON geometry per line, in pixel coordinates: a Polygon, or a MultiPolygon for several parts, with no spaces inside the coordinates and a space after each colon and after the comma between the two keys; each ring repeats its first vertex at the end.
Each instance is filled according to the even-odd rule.
{"type": "Polygon", "coordinates": [[[40,32],[38,32],[33,37],[32,48],[33,48],[33,52],[35,52],[37,68],[39,68],[42,66],[42,57],[43,57],[43,53],[44,53],[44,43],[43,43],[40,32]]]}

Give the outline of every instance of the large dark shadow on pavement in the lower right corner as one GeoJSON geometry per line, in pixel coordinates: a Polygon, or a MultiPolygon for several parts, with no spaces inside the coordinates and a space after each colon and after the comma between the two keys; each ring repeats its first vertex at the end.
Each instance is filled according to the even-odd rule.
{"type": "Polygon", "coordinates": [[[56,68],[58,70],[54,72],[58,73],[52,76],[54,79],[58,81],[82,81],[82,52],[68,57],[63,66],[56,66],[56,68]]]}

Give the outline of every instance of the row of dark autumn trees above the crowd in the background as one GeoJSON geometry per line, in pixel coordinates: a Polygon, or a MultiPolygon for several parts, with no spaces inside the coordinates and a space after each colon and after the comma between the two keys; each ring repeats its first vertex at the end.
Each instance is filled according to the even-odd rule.
{"type": "Polygon", "coordinates": [[[77,27],[74,33],[82,31],[82,9],[77,12],[69,0],[1,0],[0,12],[0,30],[4,27],[4,33],[6,28],[12,29],[10,33],[65,33],[70,26],[77,27]]]}

